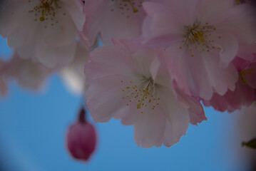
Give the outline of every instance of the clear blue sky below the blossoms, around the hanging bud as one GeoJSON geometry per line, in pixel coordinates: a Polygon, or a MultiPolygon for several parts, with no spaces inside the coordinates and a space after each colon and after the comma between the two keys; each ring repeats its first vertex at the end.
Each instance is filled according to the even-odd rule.
{"type": "MultiPolygon", "coordinates": [[[[10,54],[6,40],[0,38],[0,56],[10,54]]],[[[48,78],[40,92],[9,82],[9,94],[0,98],[0,163],[4,171],[246,168],[233,148],[240,148],[240,142],[232,140],[237,115],[217,113],[212,108],[205,108],[208,121],[198,127],[190,125],[187,135],[170,148],[138,147],[133,127],[121,125],[120,120],[94,123],[96,152],[87,163],[73,160],[66,150],[66,130],[76,120],[80,107],[81,97],[68,92],[58,74],[48,78]]]]}

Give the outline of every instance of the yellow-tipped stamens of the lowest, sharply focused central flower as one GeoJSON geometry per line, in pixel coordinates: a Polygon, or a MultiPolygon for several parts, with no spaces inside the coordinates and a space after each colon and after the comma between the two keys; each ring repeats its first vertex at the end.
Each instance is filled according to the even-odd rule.
{"type": "Polygon", "coordinates": [[[152,78],[146,78],[140,81],[121,81],[124,86],[122,92],[124,93],[123,100],[126,100],[127,104],[133,103],[135,100],[137,108],[143,113],[144,108],[151,108],[154,110],[159,105],[158,98],[158,85],[154,83],[152,78]]]}

